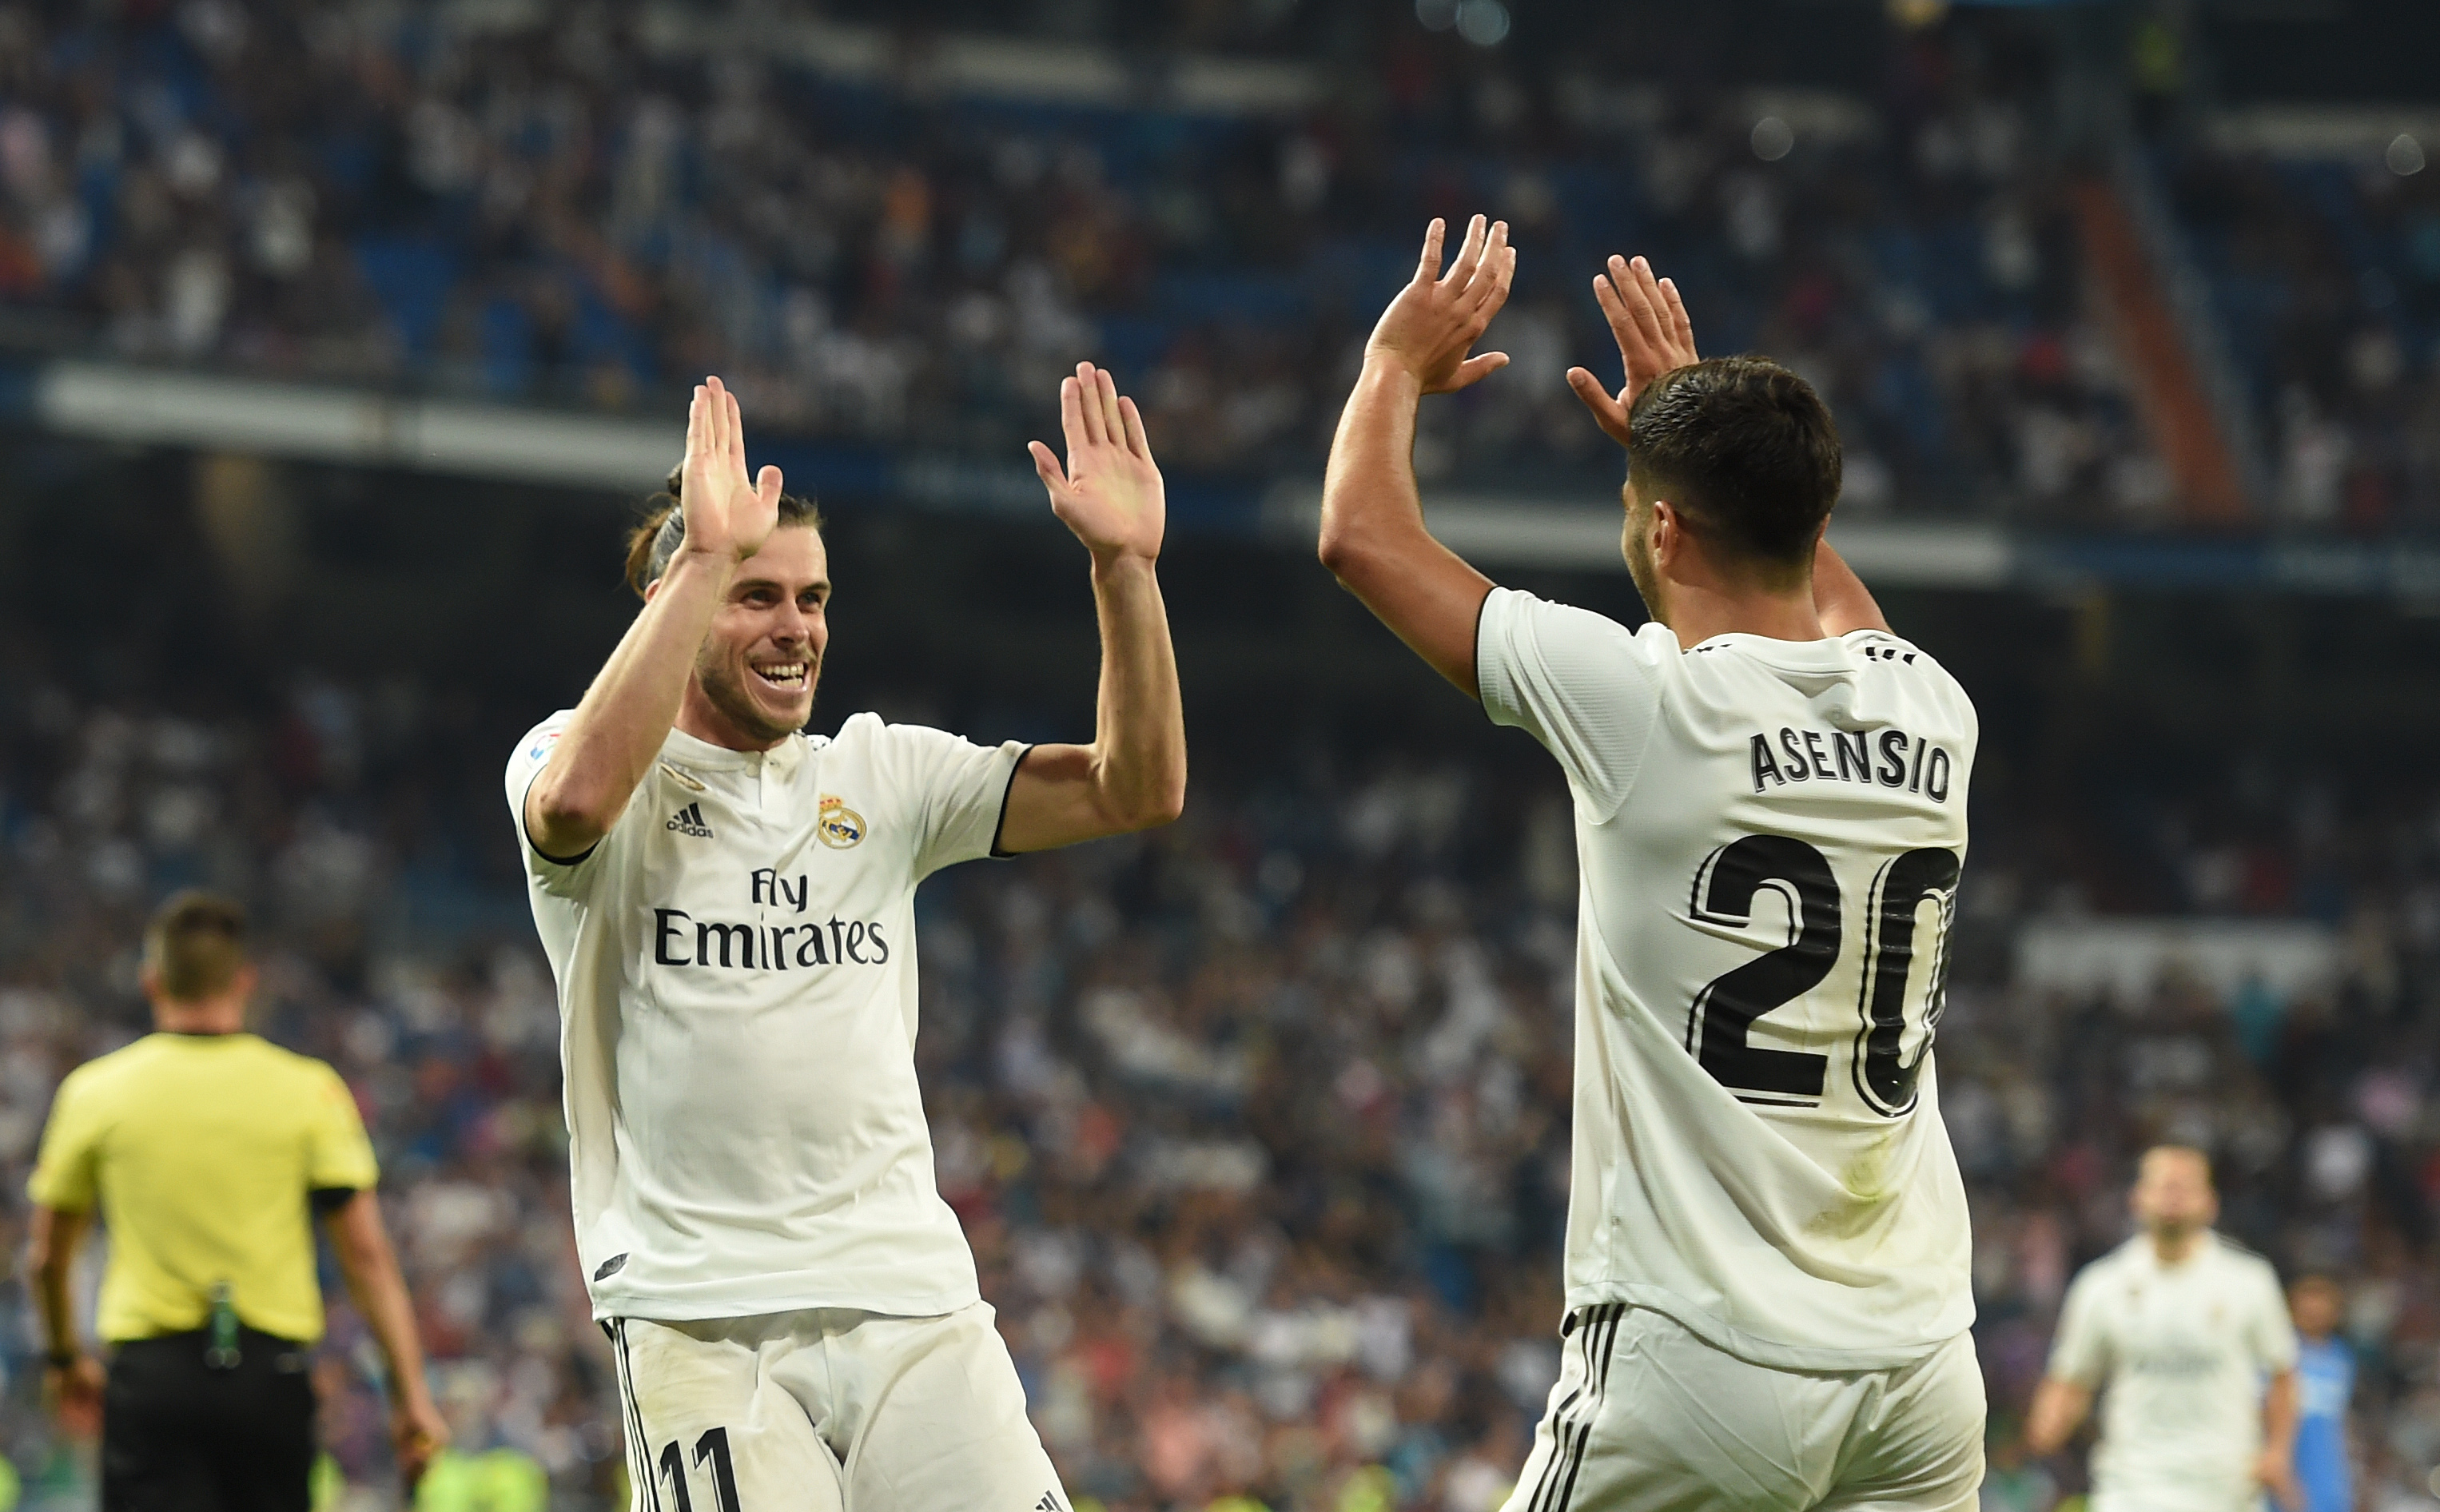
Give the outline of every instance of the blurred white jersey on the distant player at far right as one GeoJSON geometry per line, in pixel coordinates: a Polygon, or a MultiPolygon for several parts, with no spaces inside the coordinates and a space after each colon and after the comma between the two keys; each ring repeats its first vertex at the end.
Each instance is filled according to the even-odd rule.
{"type": "Polygon", "coordinates": [[[2094,1490],[2259,1507],[2262,1388],[2296,1366],[2279,1273],[2218,1234],[2162,1266],[2142,1234],[2076,1273],[2050,1373],[2101,1393],[2094,1490]]]}

